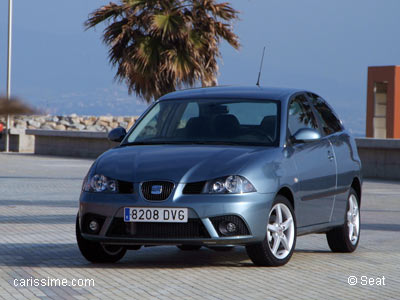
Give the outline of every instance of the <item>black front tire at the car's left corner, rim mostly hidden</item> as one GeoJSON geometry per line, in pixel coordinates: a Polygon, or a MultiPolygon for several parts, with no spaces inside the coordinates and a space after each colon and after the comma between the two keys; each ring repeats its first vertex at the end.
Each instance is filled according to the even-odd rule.
{"type": "Polygon", "coordinates": [[[84,239],[79,228],[79,215],[76,217],[75,233],[79,250],[83,257],[92,263],[114,263],[124,257],[126,253],[125,247],[103,245],[84,239]]]}

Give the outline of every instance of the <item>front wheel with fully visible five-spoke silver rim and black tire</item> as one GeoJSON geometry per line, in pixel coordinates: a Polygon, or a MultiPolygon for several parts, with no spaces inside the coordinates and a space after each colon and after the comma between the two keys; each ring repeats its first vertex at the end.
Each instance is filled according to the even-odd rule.
{"type": "Polygon", "coordinates": [[[292,257],[297,235],[296,217],[286,197],[275,198],[266,231],[262,242],[246,246],[247,254],[257,266],[283,266],[292,257]]]}

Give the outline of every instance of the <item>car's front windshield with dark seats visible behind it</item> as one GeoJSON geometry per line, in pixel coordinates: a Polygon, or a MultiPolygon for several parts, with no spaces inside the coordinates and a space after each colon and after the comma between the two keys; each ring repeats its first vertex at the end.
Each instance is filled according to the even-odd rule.
{"type": "Polygon", "coordinates": [[[244,99],[164,100],[124,140],[134,144],[279,143],[279,102],[244,99]]]}

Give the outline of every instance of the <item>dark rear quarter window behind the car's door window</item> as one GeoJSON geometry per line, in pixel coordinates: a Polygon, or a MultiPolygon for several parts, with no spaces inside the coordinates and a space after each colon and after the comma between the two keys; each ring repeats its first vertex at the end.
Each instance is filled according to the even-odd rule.
{"type": "Polygon", "coordinates": [[[329,108],[328,105],[326,105],[325,101],[315,95],[315,94],[310,94],[312,104],[314,105],[315,109],[318,112],[318,115],[322,121],[322,129],[326,135],[330,135],[335,132],[342,131],[342,125],[338,118],[336,118],[335,114],[332,112],[332,110],[329,108]]]}

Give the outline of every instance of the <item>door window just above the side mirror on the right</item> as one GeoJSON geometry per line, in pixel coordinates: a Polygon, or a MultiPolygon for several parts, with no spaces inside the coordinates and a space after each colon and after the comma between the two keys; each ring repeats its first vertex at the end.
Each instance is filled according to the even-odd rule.
{"type": "Polygon", "coordinates": [[[293,99],[289,105],[288,128],[290,135],[299,129],[312,128],[318,130],[318,123],[307,99],[301,95],[293,99]]]}

